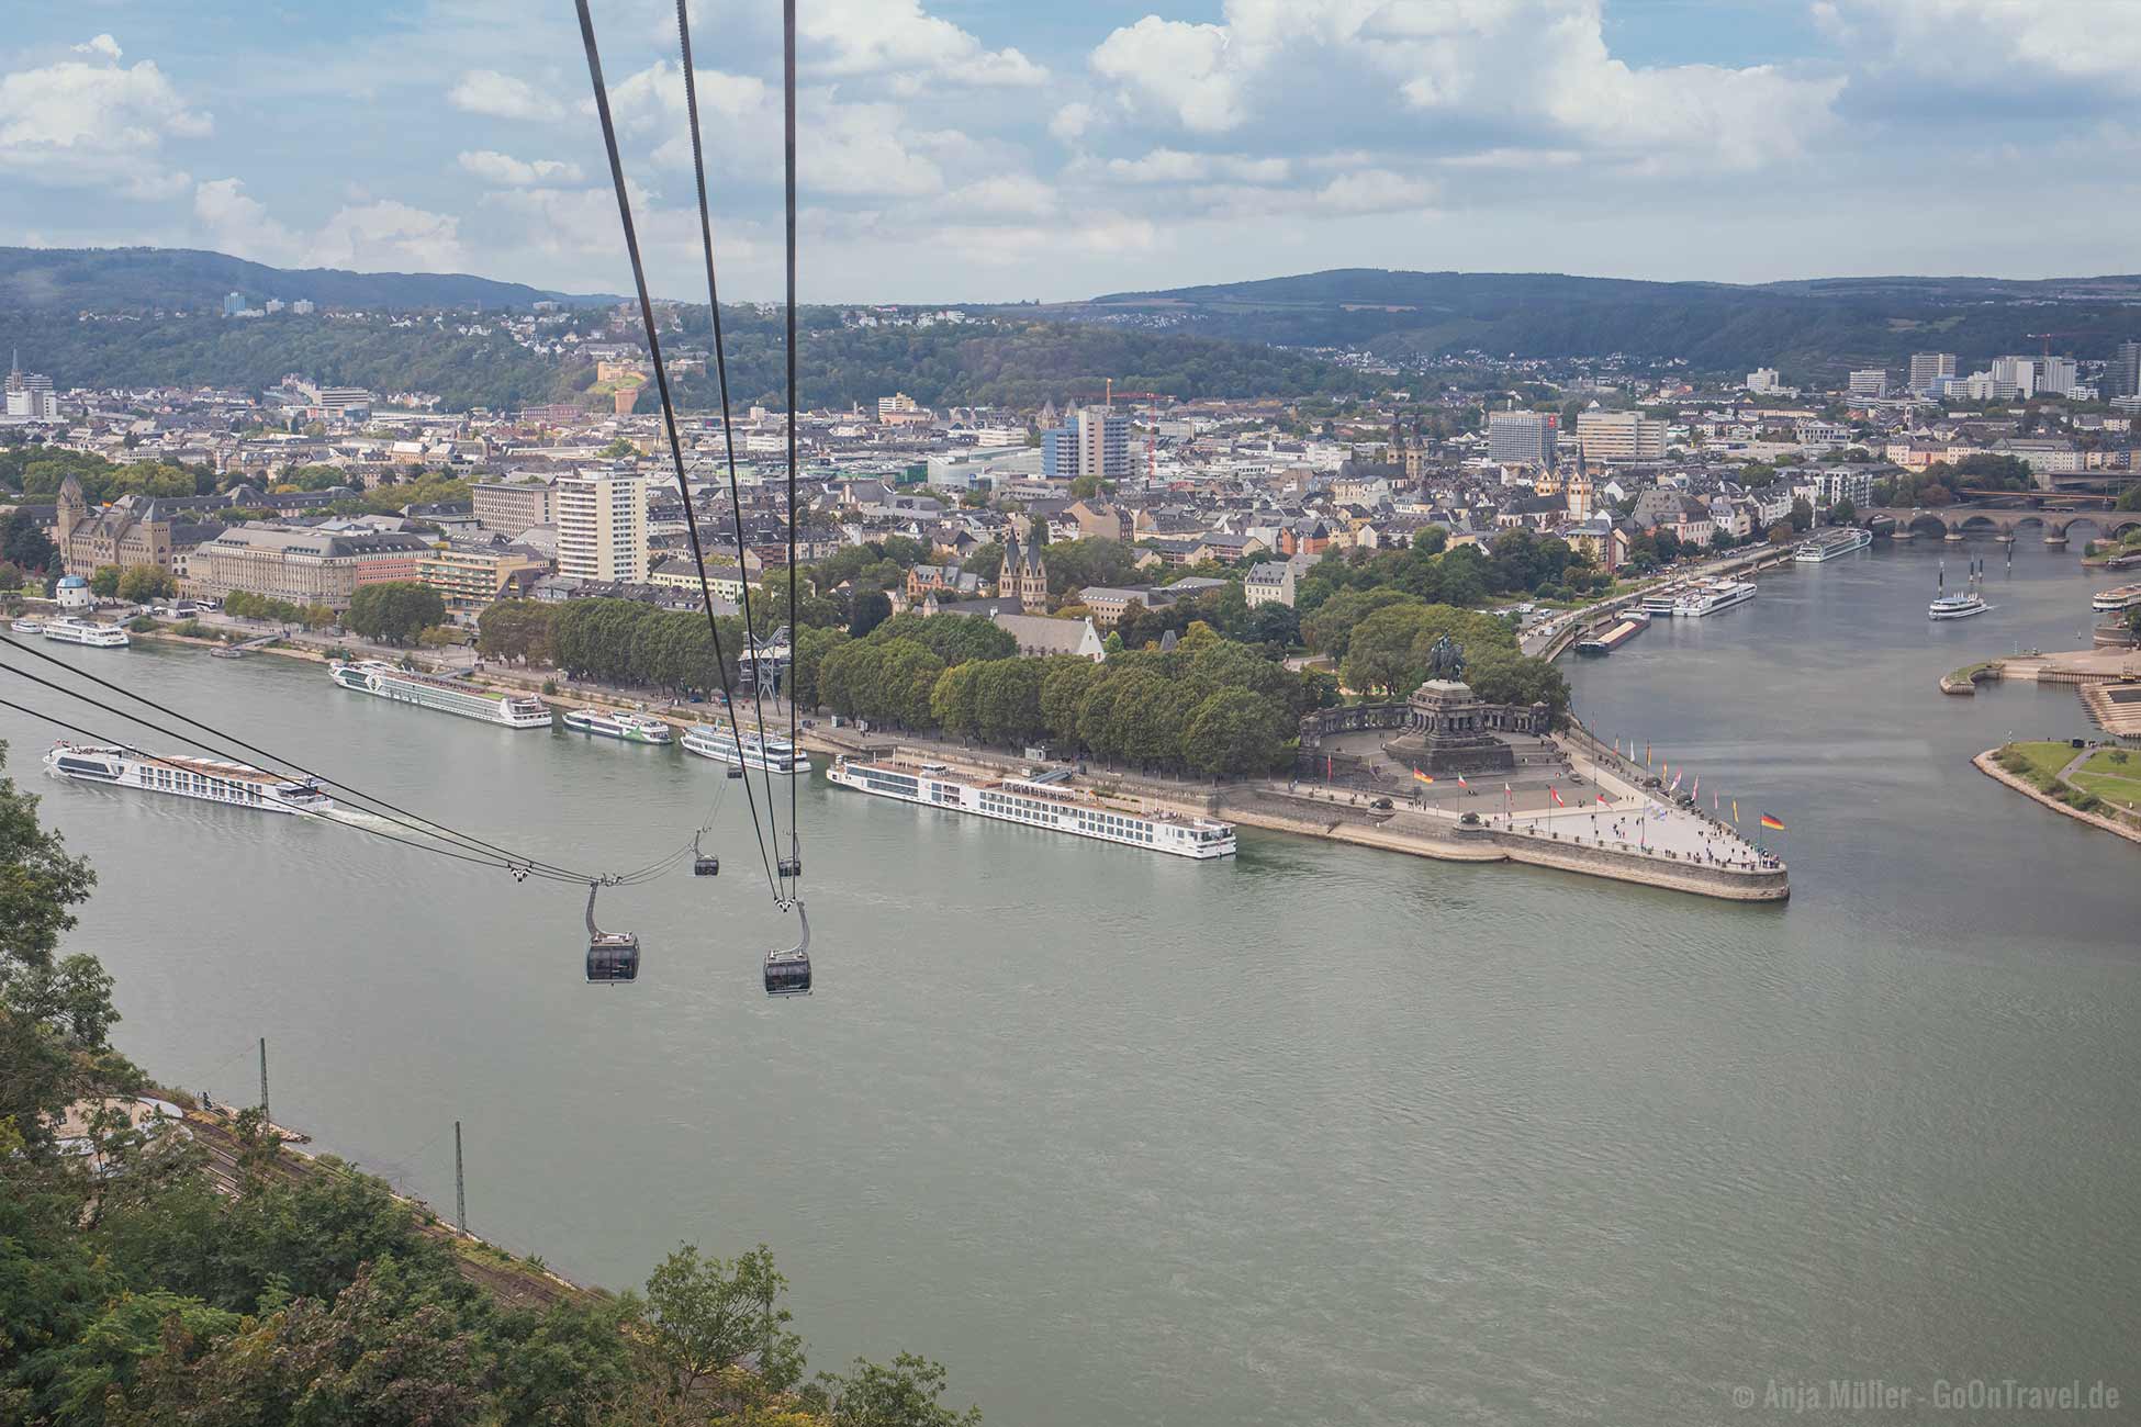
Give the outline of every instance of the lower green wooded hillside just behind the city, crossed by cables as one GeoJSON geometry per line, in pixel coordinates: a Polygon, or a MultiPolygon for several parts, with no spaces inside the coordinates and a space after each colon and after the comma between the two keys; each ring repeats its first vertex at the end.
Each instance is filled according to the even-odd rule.
{"type": "MultiPolygon", "coordinates": [[[[1372,389],[1372,381],[1330,362],[1255,342],[1124,332],[1079,323],[966,323],[944,327],[839,325],[807,310],[801,383],[807,406],[846,409],[906,392],[929,406],[1021,404],[1118,389],[1205,396],[1304,396],[1372,389]]],[[[685,310],[679,344],[704,344],[704,308],[685,310]]],[[[732,394],[741,404],[779,398],[781,327],[749,308],[724,312],[732,394]]],[[[512,336],[465,336],[454,325],[385,319],[351,321],[276,312],[248,321],[143,317],[79,321],[73,312],[0,310],[0,349],[17,349],[28,370],[64,387],[240,387],[263,389],[287,372],[379,394],[428,392],[452,411],[514,409],[595,398],[595,368],[537,355],[512,336]]],[[[679,383],[679,402],[717,404],[713,374],[679,383]]],[[[644,398],[651,400],[651,398],[644,398]]]]}

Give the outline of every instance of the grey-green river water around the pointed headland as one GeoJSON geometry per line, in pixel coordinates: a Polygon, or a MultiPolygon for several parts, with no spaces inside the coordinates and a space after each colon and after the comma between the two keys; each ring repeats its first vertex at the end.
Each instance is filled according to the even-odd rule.
{"type": "Polygon", "coordinates": [[[1918,1393],[1884,1421],[2023,1421],[1925,1401],[1972,1378],[2130,1410],[2141,864],[1968,764],[2090,732],[2070,691],[1935,691],[2085,642],[2092,580],[1972,552],[1976,620],[1925,618],[1961,556],[1920,543],[1569,665],[1601,734],[1786,819],[1783,907],[1263,832],[1199,864],[820,779],[784,1003],[794,922],[704,759],[62,653],[557,862],[724,794],[722,877],[606,896],[647,965],[591,991],[572,888],[49,785],[49,734],[0,736],[98,866],[71,943],[143,1065],[250,1100],[268,1035],[276,1119],[441,1207],[462,1119],[471,1226],[591,1282],[766,1241],[818,1367],[925,1352],[993,1423],[1711,1423],[1809,1380],[1801,1421],[1863,1421],[1826,1384],[1871,1378],[1918,1393]]]}

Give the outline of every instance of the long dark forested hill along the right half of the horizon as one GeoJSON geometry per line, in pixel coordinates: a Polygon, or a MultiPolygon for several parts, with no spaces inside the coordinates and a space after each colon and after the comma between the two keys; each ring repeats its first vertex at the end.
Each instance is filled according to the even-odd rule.
{"type": "MultiPolygon", "coordinates": [[[[1034,312],[1034,308],[1026,308],[1034,312]]],[[[1781,368],[1788,379],[1899,366],[1912,351],[1980,364],[2055,349],[2109,357],[2141,336],[2141,276],[1820,278],[1741,287],[1567,274],[1340,267],[1259,282],[1109,293],[1038,310],[1073,321],[1165,325],[1285,347],[1390,355],[1477,349],[1518,357],[1627,353],[1700,370],[1781,368]]]]}

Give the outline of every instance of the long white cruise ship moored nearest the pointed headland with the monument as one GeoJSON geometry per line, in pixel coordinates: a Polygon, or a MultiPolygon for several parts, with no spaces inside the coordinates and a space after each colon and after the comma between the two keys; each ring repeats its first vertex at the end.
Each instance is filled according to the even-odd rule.
{"type": "Polygon", "coordinates": [[[1175,858],[1225,858],[1235,851],[1233,824],[1137,811],[1070,787],[1070,772],[1062,768],[1023,779],[968,779],[953,774],[944,764],[841,757],[826,779],[878,798],[1145,847],[1175,858]]]}

